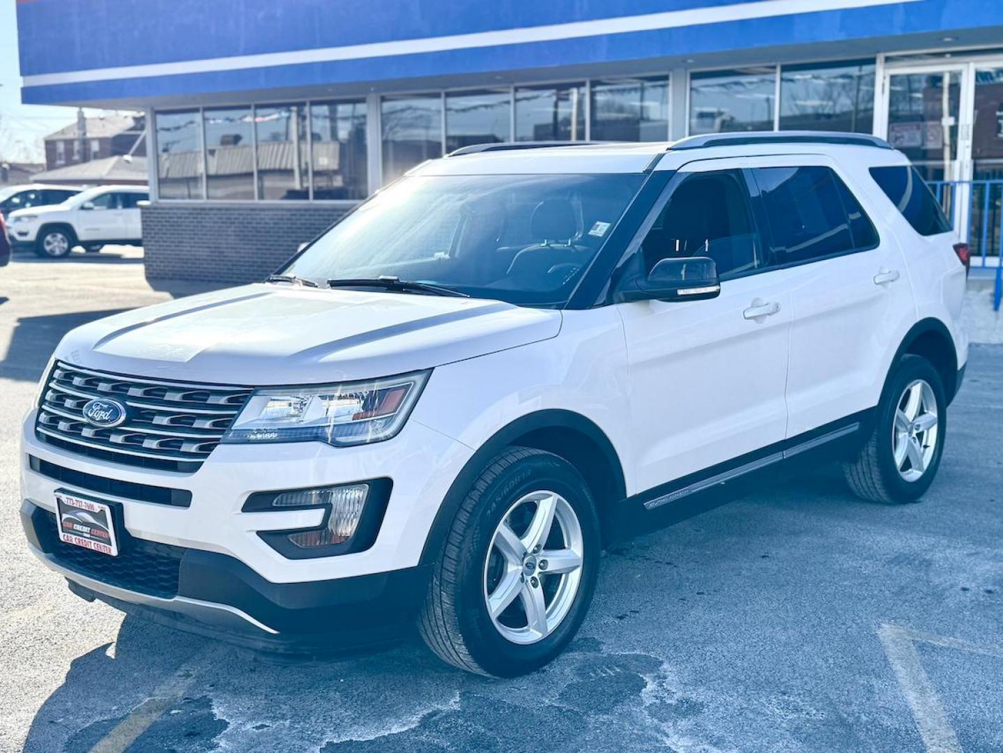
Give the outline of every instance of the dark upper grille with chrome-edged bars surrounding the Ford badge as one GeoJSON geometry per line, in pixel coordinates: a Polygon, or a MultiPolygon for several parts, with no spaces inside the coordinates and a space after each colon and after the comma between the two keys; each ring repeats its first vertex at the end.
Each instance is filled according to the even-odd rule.
{"type": "Polygon", "coordinates": [[[77,454],[126,465],[192,472],[209,456],[251,396],[248,387],[163,382],[58,362],[39,404],[39,438],[77,454]],[[126,408],[118,426],[83,417],[94,399],[126,408]]]}

